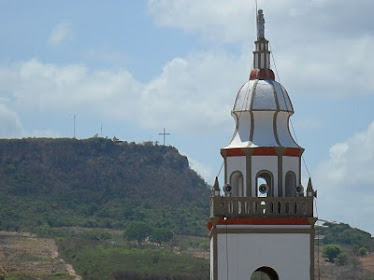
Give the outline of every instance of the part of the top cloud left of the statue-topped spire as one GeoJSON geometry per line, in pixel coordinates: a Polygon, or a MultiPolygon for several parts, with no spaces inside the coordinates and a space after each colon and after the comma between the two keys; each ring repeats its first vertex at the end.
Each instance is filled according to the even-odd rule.
{"type": "Polygon", "coordinates": [[[159,25],[224,42],[248,34],[250,15],[255,15],[247,0],[149,0],[148,10],[159,25]]]}

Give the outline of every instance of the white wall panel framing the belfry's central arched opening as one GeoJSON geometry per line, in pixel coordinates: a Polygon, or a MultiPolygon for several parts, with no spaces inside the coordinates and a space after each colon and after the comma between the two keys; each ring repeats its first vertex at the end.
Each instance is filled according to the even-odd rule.
{"type": "Polygon", "coordinates": [[[256,194],[256,175],[259,171],[267,170],[273,174],[274,196],[278,196],[278,157],[252,156],[252,194],[256,194]]]}

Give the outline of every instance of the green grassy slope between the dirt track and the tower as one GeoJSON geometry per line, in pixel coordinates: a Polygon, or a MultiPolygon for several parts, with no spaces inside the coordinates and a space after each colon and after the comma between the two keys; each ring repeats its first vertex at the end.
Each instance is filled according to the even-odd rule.
{"type": "Polygon", "coordinates": [[[102,231],[101,240],[82,238],[80,230],[57,239],[61,255],[83,279],[209,279],[208,259],[193,254],[206,249],[207,238],[176,236],[165,247],[148,242],[138,247],[121,238],[122,232],[102,231]]]}

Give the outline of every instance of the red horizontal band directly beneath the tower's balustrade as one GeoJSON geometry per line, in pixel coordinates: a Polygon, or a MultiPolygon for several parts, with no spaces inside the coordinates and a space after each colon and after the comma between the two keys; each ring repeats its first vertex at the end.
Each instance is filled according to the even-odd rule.
{"type": "MultiPolygon", "coordinates": [[[[219,218],[216,225],[311,225],[308,218],[219,218]]],[[[207,222],[210,230],[213,227],[211,221],[207,222]]]]}

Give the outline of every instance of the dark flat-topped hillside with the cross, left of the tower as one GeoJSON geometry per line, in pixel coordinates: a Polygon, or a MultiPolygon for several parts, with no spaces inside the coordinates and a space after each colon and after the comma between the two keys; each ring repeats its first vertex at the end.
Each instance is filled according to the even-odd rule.
{"type": "Polygon", "coordinates": [[[0,229],[123,229],[132,220],[206,234],[209,189],[173,147],[104,138],[0,140],[0,229]]]}

